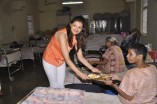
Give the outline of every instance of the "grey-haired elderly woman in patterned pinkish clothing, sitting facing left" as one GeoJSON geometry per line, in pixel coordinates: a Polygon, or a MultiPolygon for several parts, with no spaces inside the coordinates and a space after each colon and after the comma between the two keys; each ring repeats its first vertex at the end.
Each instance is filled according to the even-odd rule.
{"type": "Polygon", "coordinates": [[[97,68],[103,73],[121,73],[126,69],[125,61],[121,48],[117,45],[118,41],[115,37],[109,36],[106,38],[106,51],[102,55],[100,61],[90,61],[91,64],[96,64],[97,68]]]}

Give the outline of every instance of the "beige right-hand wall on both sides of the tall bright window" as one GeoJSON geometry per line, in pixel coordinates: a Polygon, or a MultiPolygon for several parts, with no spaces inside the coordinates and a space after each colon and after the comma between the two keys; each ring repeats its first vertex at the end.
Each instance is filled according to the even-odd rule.
{"type": "MultiPolygon", "coordinates": [[[[141,29],[141,0],[135,0],[133,3],[128,3],[131,11],[131,29],[141,29]]],[[[148,0],[148,26],[147,35],[142,36],[142,43],[153,44],[153,49],[157,50],[157,0],[148,0]]]]}

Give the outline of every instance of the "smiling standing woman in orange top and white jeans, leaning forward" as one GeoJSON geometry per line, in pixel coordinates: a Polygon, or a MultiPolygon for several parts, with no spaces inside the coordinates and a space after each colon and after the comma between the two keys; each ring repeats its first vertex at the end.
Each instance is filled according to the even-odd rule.
{"type": "Polygon", "coordinates": [[[76,49],[76,54],[80,62],[92,72],[100,72],[83,57],[81,47],[84,45],[85,35],[85,19],[82,16],[76,16],[70,21],[66,28],[58,30],[52,36],[43,54],[43,67],[48,77],[50,87],[64,88],[65,63],[82,79],[89,79],[89,77],[79,71],[71,61],[69,52],[73,47],[76,49]]]}

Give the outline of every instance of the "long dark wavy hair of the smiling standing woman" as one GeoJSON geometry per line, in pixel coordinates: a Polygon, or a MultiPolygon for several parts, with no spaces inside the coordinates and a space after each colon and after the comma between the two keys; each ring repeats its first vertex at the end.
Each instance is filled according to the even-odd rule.
{"type": "Polygon", "coordinates": [[[79,34],[76,35],[76,39],[77,39],[77,50],[76,50],[76,52],[78,52],[78,50],[80,48],[84,47],[84,45],[85,45],[85,37],[87,36],[87,33],[86,33],[86,29],[85,29],[85,19],[84,19],[84,17],[83,16],[74,17],[70,21],[70,23],[66,26],[69,46],[72,47],[72,42],[73,42],[73,34],[71,32],[70,24],[72,24],[75,21],[79,21],[83,24],[82,31],[79,34]]]}

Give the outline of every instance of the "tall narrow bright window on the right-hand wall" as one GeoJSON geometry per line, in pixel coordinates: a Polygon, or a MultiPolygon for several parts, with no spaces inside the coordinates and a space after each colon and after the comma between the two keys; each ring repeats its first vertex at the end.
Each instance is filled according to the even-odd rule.
{"type": "Polygon", "coordinates": [[[147,34],[147,9],[148,9],[148,0],[141,0],[141,30],[143,34],[147,34]]]}

